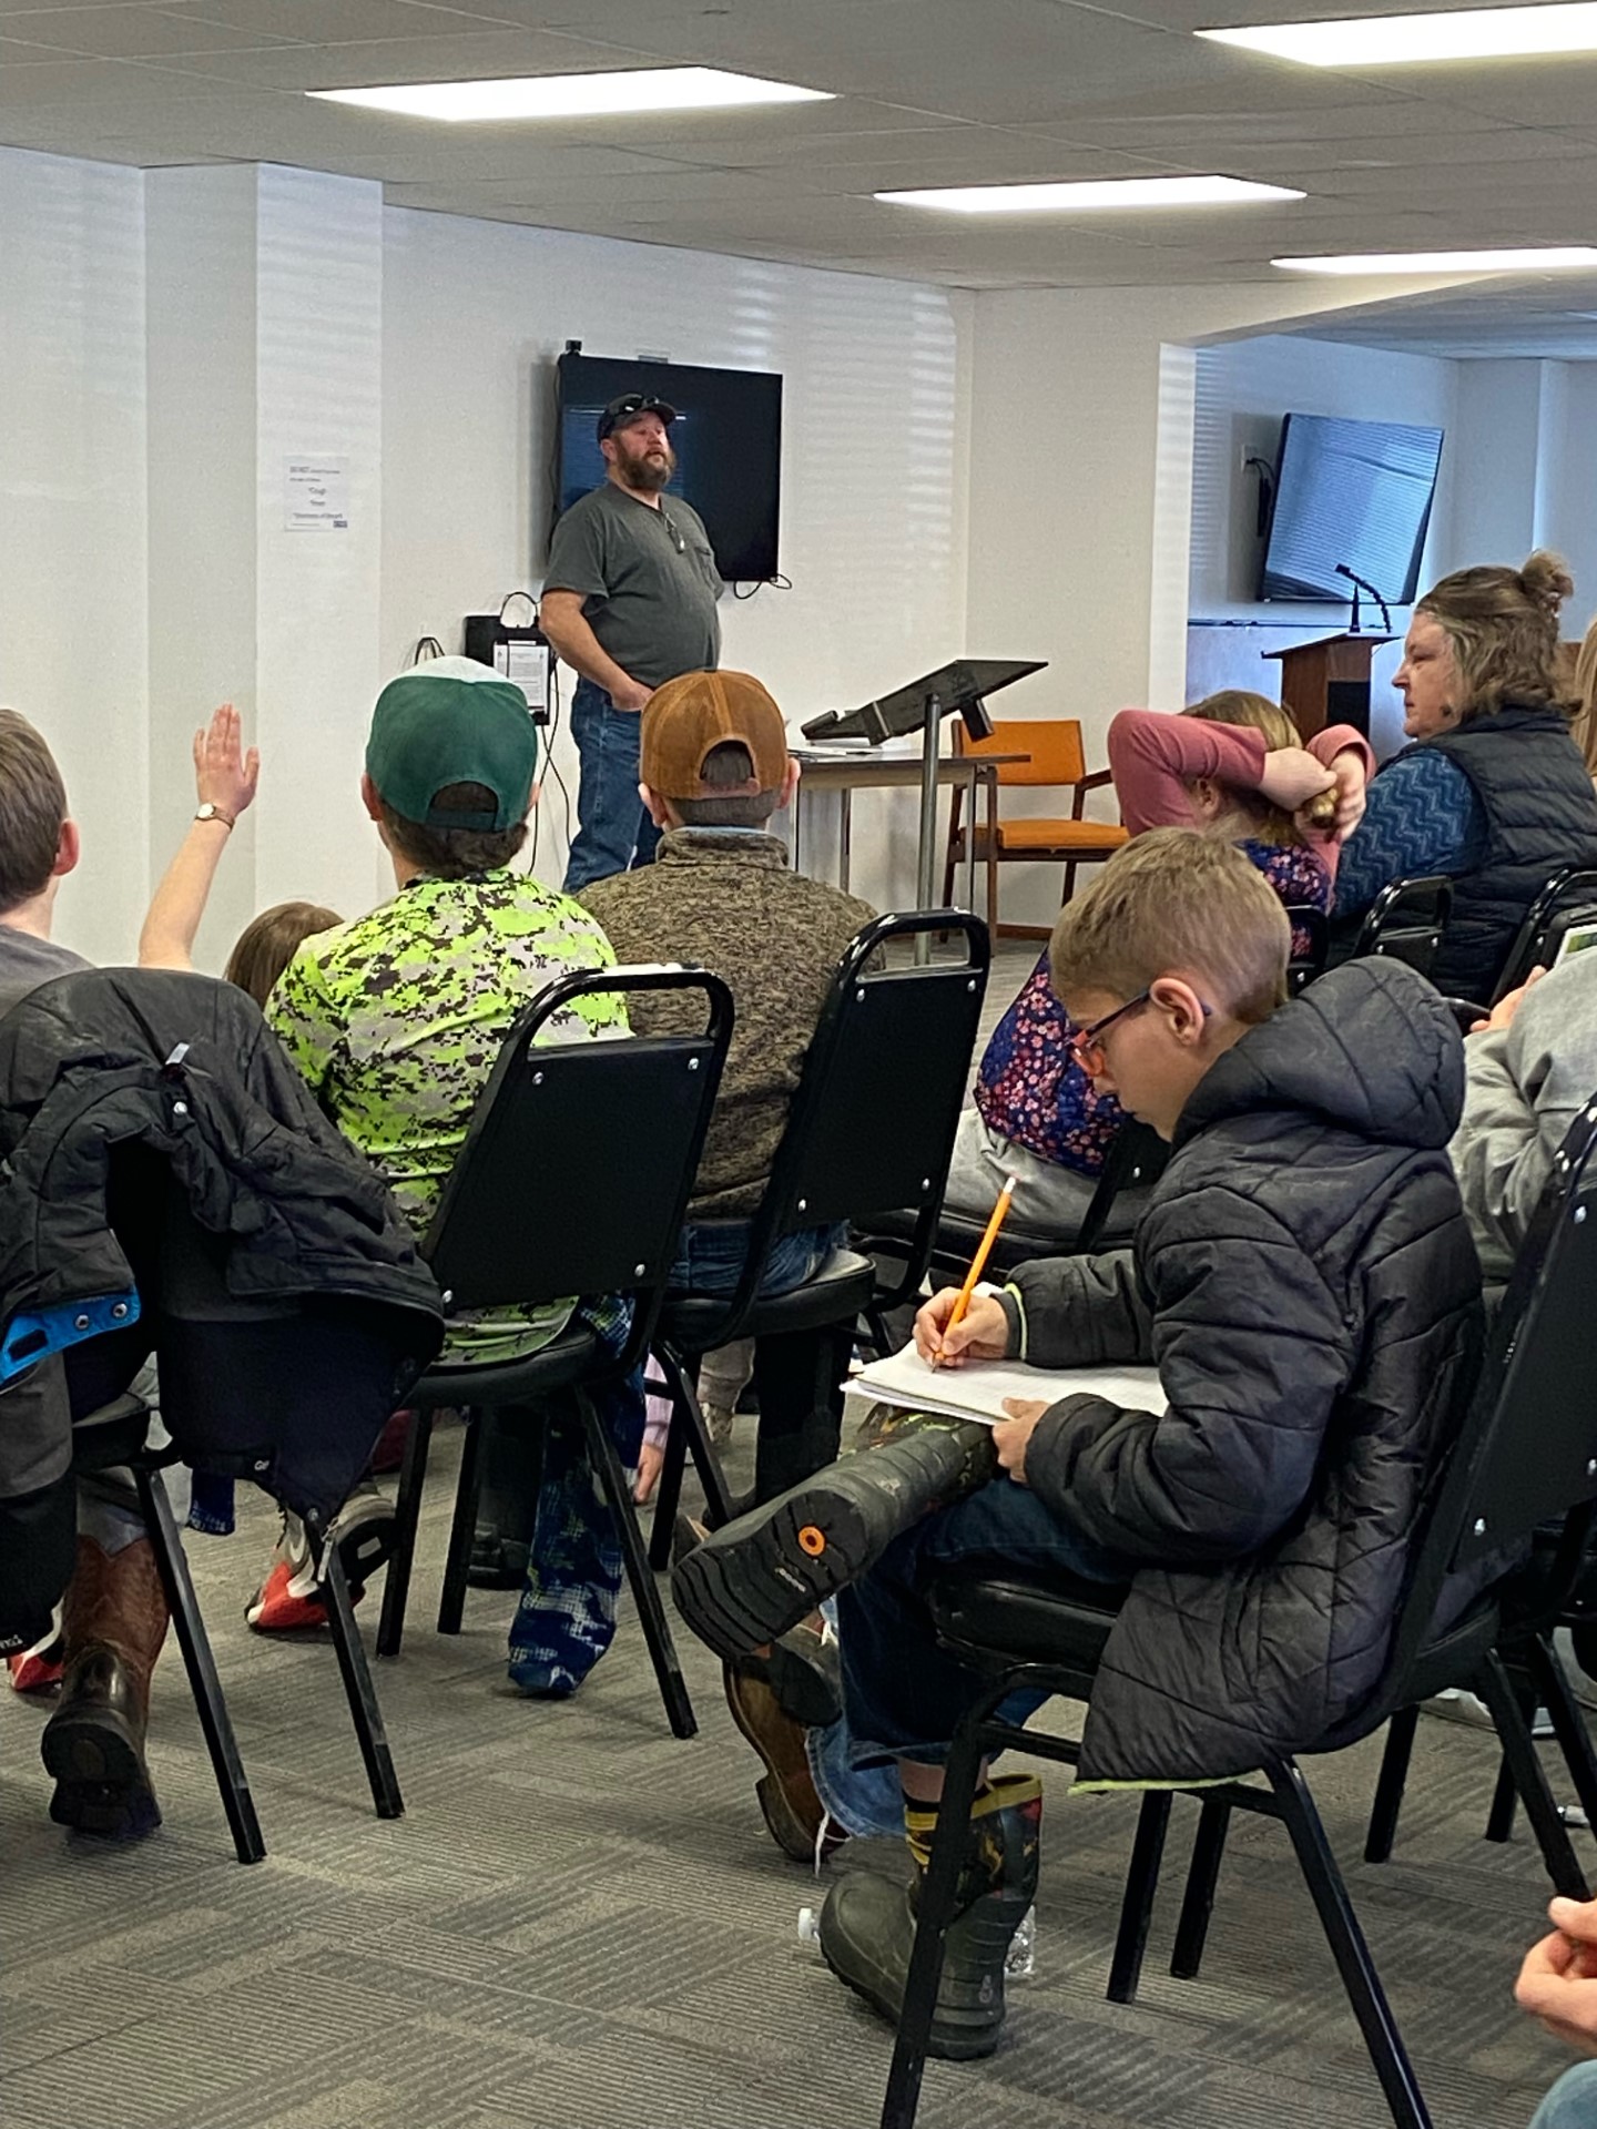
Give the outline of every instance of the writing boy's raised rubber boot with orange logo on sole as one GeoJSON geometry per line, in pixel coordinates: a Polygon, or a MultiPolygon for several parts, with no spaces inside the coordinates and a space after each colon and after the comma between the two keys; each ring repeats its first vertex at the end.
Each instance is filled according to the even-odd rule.
{"type": "Polygon", "coordinates": [[[999,1475],[992,1429],[875,1405],[862,1450],[711,1531],[671,1569],[677,1612],[724,1661],[775,1641],[937,1507],[999,1475]]]}

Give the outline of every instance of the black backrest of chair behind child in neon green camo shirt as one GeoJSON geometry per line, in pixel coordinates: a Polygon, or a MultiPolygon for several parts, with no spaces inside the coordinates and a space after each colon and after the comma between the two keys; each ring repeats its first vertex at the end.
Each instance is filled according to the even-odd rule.
{"type": "Polygon", "coordinates": [[[641,1352],[730,1033],[732,994],[705,969],[583,969],[539,992],[505,1037],[422,1243],[445,1307],[647,1292],[628,1339],[628,1356],[641,1352]],[[539,1043],[575,999],[660,990],[698,992],[705,1028],[539,1043]]]}

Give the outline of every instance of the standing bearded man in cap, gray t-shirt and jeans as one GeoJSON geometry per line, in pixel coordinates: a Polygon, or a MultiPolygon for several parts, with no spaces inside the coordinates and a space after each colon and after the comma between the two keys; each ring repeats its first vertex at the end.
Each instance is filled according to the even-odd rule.
{"type": "Polygon", "coordinates": [[[664,490],[677,409],[643,392],[598,417],[607,477],[554,528],[541,624],[577,671],[571,737],[581,758],[566,894],[647,864],[660,830],[639,796],[639,713],[679,673],[720,664],[724,585],[694,509],[664,490]]]}

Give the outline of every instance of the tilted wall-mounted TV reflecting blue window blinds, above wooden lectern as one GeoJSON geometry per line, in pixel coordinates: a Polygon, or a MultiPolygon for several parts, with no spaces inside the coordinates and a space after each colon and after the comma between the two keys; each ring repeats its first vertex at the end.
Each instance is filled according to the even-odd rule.
{"type": "Polygon", "coordinates": [[[1344,562],[1388,605],[1412,605],[1439,462],[1439,428],[1288,413],[1258,596],[1341,603],[1344,562]]]}

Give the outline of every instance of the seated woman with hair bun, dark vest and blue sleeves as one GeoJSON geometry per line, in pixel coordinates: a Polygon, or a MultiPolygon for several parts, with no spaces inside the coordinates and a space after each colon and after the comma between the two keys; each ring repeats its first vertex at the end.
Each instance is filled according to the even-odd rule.
{"type": "Polygon", "coordinates": [[[1414,607],[1395,686],[1412,745],[1369,786],[1337,873],[1337,915],[1388,879],[1448,873],[1437,990],[1491,999],[1525,911],[1552,873],[1597,867],[1597,792],[1569,737],[1557,554],[1459,568],[1414,607]]]}

